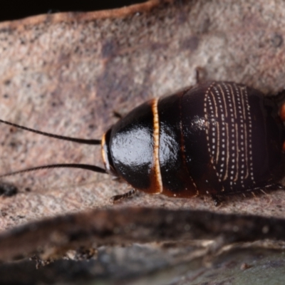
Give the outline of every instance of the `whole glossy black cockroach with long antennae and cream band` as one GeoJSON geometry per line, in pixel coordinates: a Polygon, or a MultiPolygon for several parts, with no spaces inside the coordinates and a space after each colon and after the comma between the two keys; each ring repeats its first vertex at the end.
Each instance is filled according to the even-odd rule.
{"type": "Polygon", "coordinates": [[[284,189],[285,95],[264,96],[243,84],[198,83],[173,95],[149,100],[118,120],[101,140],[43,133],[73,142],[101,145],[105,169],[95,165],[56,164],[120,177],[133,189],[170,197],[227,195],[284,189]]]}

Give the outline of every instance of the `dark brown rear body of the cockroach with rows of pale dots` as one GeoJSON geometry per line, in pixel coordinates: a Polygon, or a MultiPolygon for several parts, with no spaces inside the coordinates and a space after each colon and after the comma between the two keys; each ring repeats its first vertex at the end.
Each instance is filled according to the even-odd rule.
{"type": "Polygon", "coordinates": [[[204,83],[183,95],[185,157],[199,192],[227,195],[280,179],[283,138],[275,109],[261,92],[236,83],[204,83]]]}

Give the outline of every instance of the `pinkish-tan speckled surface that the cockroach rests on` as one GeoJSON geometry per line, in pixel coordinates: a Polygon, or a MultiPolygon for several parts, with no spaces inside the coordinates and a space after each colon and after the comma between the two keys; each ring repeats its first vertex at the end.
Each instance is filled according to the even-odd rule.
{"type": "MultiPolygon", "coordinates": [[[[43,15],[0,25],[0,117],[61,135],[100,138],[152,96],[207,78],[246,83],[265,93],[284,87],[285,4],[271,1],[150,1],[115,11],[43,15]]],[[[1,126],[1,172],[53,163],[102,166],[100,147],[41,138],[1,126]]],[[[284,217],[285,192],[170,199],[139,194],[112,206],[127,191],[106,175],[45,170],[5,181],[19,188],[1,198],[0,229],[56,214],[102,207],[147,206],[284,217]],[[26,191],[27,187],[29,192],[26,191]]]]}

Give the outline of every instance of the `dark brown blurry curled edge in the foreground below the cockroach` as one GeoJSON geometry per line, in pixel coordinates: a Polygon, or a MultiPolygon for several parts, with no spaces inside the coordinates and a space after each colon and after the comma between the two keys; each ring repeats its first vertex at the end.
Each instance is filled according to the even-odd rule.
{"type": "Polygon", "coordinates": [[[53,259],[62,257],[67,249],[81,246],[98,248],[173,241],[187,244],[199,239],[216,239],[210,252],[234,242],[259,239],[284,242],[285,221],[207,211],[99,209],[31,223],[0,235],[0,260],[31,256],[38,251],[42,258],[53,259]]]}

